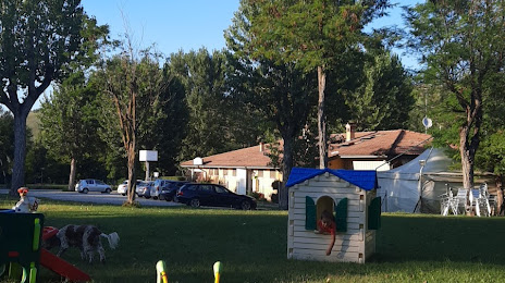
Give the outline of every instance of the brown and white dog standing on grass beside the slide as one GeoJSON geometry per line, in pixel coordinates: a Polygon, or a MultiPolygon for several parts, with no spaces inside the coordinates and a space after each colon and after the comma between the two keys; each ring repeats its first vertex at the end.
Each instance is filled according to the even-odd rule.
{"type": "Polygon", "coordinates": [[[106,251],[100,237],[107,238],[112,249],[116,248],[120,242],[120,236],[115,232],[107,235],[94,225],[66,225],[52,237],[45,239],[42,247],[51,249],[59,246],[58,257],[61,257],[69,247],[76,247],[81,250],[81,258],[88,260],[89,263],[93,262],[93,255],[96,250],[100,255],[100,261],[104,263],[106,251]]]}

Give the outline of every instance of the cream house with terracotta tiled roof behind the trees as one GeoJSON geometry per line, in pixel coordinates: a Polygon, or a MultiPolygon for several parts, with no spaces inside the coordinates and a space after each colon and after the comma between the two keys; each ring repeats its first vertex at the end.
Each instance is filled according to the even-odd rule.
{"type": "MultiPolygon", "coordinates": [[[[330,169],[389,170],[424,151],[431,136],[405,130],[354,132],[332,135],[328,150],[330,169]]],[[[282,147],[282,144],[281,144],[282,147]]],[[[282,181],[282,172],[271,164],[269,145],[260,144],[181,163],[192,180],[222,184],[237,194],[251,192],[270,199],[272,183],[282,181]]]]}

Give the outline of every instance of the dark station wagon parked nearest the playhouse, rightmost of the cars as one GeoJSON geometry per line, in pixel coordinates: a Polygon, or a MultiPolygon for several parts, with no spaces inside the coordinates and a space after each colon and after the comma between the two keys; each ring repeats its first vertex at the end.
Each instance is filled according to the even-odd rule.
{"type": "Polygon", "coordinates": [[[237,195],[227,188],[215,184],[188,183],[176,194],[176,201],[192,207],[233,207],[244,210],[256,209],[256,199],[237,195]]]}

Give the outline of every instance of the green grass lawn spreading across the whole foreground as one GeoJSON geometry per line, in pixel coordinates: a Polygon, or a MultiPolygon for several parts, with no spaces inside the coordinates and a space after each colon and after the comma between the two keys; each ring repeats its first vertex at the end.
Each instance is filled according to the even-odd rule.
{"type": "MultiPolygon", "coordinates": [[[[0,208],[16,199],[0,198],[0,208]]],[[[123,208],[44,200],[46,225],[96,224],[118,232],[106,241],[106,264],[88,264],[78,251],[63,258],[94,282],[156,282],[163,259],[169,282],[505,282],[505,218],[384,214],[378,253],[366,264],[286,259],[286,211],[190,208],[123,208]]],[[[53,250],[54,251],[54,250],[53,250]]],[[[60,282],[42,269],[39,282],[60,282]]]]}

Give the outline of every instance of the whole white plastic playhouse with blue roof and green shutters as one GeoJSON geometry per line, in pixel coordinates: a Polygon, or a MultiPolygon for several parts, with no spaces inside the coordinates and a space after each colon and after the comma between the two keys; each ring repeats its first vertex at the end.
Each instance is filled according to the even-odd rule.
{"type": "Polygon", "coordinates": [[[381,226],[375,171],[293,168],[286,187],[287,258],[365,263],[373,255],[381,226]],[[331,256],[325,255],[329,237],[315,233],[324,210],[333,212],[336,222],[331,256]]]}

